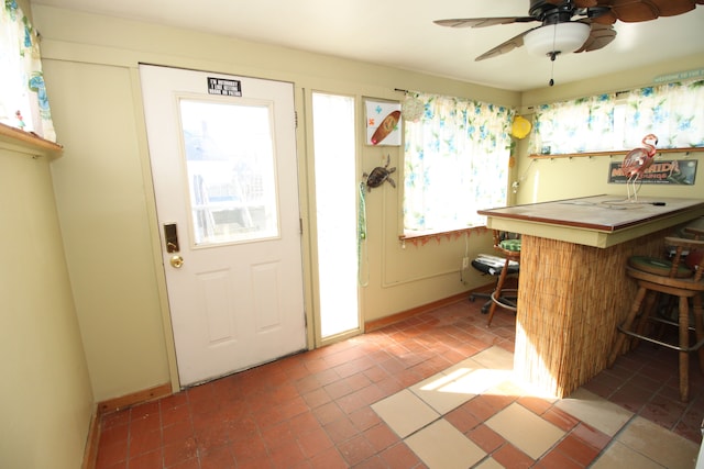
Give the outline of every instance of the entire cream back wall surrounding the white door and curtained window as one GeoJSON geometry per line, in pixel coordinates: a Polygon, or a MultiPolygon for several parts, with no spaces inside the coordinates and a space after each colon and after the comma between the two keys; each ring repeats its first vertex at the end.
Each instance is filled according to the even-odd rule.
{"type": "MultiPolygon", "coordinates": [[[[519,94],[334,57],[210,34],[34,5],[42,32],[47,92],[65,156],[53,166],[58,213],[78,321],[97,401],[167,382],[175,372],[165,306],[155,206],[148,171],[138,64],[288,80],[296,86],[299,122],[311,90],[398,100],[395,88],[518,105],[519,94]]],[[[314,301],[315,213],[311,130],[298,129],[308,314],[314,301]]],[[[360,176],[400,148],[365,147],[359,132],[360,176]]],[[[399,168],[400,170],[400,168],[399,168]]],[[[400,181],[402,176],[397,179],[400,181]]],[[[350,188],[356,190],[356,188],[350,188]]],[[[461,202],[461,196],[458,197],[461,202]]],[[[386,186],[367,198],[370,283],[361,289],[364,321],[385,317],[487,283],[459,269],[465,239],[398,242],[399,191],[386,186]]],[[[491,249],[472,235],[470,256],[491,249]]],[[[309,317],[309,319],[312,319],[309,317]]],[[[309,322],[310,324],[310,322],[309,322]]]]}

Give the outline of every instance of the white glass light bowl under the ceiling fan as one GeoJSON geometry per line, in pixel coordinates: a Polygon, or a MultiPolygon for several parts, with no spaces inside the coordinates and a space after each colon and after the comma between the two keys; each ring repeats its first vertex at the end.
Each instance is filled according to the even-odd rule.
{"type": "Polygon", "coordinates": [[[590,31],[588,24],[579,21],[549,24],[526,33],[524,44],[534,55],[568,54],[582,47],[590,36],[590,31]]]}

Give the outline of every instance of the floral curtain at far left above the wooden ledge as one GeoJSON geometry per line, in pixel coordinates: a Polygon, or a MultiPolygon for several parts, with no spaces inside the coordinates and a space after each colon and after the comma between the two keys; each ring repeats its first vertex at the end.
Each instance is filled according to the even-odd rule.
{"type": "Polygon", "coordinates": [[[0,8],[0,122],[56,142],[38,35],[14,0],[0,8]]]}

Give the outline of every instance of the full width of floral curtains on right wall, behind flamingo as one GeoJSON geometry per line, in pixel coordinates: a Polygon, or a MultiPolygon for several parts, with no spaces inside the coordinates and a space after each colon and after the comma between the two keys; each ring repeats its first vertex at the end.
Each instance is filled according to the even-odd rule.
{"type": "Polygon", "coordinates": [[[625,93],[542,104],[529,150],[569,154],[629,149],[645,135],[659,148],[704,146],[704,80],[670,82],[625,93]]]}

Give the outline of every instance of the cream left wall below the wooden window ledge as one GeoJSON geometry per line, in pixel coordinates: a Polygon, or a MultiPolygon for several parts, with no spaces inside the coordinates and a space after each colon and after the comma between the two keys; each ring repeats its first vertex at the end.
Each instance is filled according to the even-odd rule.
{"type": "Polygon", "coordinates": [[[94,409],[47,156],[0,137],[0,466],[80,467],[94,409]]]}

